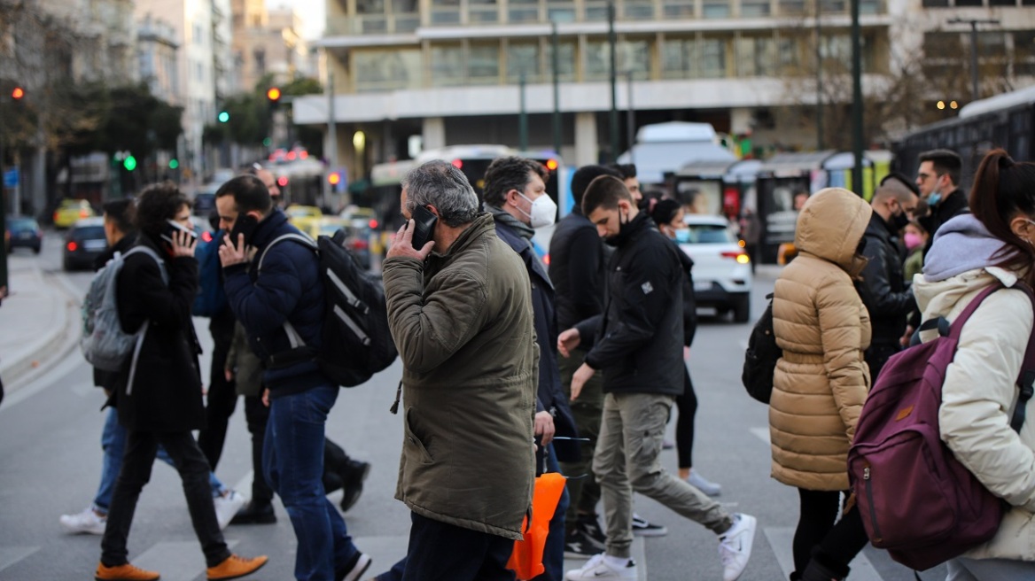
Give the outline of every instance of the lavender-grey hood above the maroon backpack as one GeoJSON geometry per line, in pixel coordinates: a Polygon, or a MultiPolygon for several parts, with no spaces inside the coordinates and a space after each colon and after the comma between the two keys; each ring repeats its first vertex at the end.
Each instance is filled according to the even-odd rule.
{"type": "Polygon", "coordinates": [[[936,282],[994,266],[1004,258],[1005,245],[972,214],[956,216],[938,228],[923,262],[923,277],[936,282]]]}

